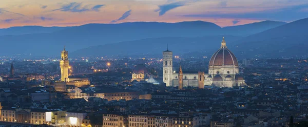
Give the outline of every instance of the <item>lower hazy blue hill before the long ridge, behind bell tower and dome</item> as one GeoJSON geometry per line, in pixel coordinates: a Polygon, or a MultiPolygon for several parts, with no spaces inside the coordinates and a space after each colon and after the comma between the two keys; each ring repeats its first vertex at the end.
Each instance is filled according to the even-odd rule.
{"type": "MultiPolygon", "coordinates": [[[[226,35],[228,43],[232,43],[242,37],[226,35]]],[[[70,53],[73,57],[83,56],[103,56],[103,55],[161,55],[164,50],[172,50],[175,55],[202,52],[204,56],[211,56],[213,52],[219,49],[222,36],[204,36],[204,37],[162,37],[149,38],[134,41],[125,41],[114,44],[105,44],[91,46],[76,50],[70,53]]]]}

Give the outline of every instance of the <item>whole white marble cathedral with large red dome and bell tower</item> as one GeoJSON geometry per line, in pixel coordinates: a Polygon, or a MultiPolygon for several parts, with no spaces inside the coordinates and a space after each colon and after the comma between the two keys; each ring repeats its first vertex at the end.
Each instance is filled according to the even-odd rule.
{"type": "MultiPolygon", "coordinates": [[[[163,52],[163,56],[165,56],[165,52],[163,52]]],[[[179,89],[182,89],[183,87],[187,86],[204,88],[204,85],[215,87],[234,87],[246,85],[245,80],[239,74],[239,64],[237,58],[227,48],[224,38],[221,42],[221,47],[217,50],[217,52],[214,53],[209,61],[208,73],[201,71],[185,72],[182,71],[181,66],[178,73],[172,72],[172,64],[171,70],[166,68],[165,65],[166,63],[172,63],[172,52],[168,55],[171,55],[171,60],[163,57],[163,74],[164,82],[166,81],[166,84],[169,83],[169,86],[179,86],[179,89]],[[167,72],[172,72],[171,77],[167,72]],[[165,78],[170,78],[170,81],[167,79],[165,80],[165,78]]]]}

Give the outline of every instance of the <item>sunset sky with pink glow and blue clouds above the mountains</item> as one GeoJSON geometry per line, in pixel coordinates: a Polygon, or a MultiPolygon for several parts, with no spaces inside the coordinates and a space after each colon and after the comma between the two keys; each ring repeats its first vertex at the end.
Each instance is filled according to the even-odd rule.
{"type": "Polygon", "coordinates": [[[307,17],[308,0],[0,0],[0,28],[195,20],[227,27],[307,17]]]}

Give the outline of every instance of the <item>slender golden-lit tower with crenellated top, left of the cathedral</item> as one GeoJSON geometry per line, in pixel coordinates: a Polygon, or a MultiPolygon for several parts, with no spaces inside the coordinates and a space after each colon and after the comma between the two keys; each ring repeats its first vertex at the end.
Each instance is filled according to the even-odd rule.
{"type": "Polygon", "coordinates": [[[60,60],[60,68],[61,68],[61,81],[69,82],[68,79],[68,52],[65,50],[65,46],[63,51],[61,52],[61,60],[60,60]]]}

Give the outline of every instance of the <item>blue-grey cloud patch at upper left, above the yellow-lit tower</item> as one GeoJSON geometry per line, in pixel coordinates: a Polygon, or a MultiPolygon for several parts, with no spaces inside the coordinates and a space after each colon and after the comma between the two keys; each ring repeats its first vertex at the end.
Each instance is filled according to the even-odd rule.
{"type": "Polygon", "coordinates": [[[82,3],[72,2],[66,5],[62,5],[61,8],[54,9],[52,11],[63,11],[63,12],[86,12],[86,11],[99,11],[104,5],[95,5],[90,7],[90,5],[83,6],[82,3]]]}

